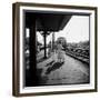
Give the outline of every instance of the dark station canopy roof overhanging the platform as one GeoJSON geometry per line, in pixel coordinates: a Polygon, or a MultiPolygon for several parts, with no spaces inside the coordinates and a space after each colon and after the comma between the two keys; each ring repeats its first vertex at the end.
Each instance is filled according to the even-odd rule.
{"type": "Polygon", "coordinates": [[[36,19],[37,31],[53,31],[62,30],[71,19],[72,14],[61,13],[31,13],[26,14],[26,27],[32,24],[36,19]]]}

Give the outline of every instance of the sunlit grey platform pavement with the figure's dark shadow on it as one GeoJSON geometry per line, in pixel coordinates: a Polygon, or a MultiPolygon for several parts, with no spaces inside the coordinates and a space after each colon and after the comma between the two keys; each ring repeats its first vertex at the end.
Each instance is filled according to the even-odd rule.
{"type": "Polygon", "coordinates": [[[89,83],[89,66],[64,53],[64,62],[57,60],[57,53],[42,59],[38,54],[38,77],[40,84],[78,84],[89,83]]]}

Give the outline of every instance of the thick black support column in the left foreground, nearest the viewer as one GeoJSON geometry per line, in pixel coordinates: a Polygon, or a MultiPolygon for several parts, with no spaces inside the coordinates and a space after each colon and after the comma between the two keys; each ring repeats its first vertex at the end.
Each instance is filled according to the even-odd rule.
{"type": "Polygon", "coordinates": [[[36,47],[36,24],[30,27],[30,86],[37,86],[37,47],[36,47]]]}

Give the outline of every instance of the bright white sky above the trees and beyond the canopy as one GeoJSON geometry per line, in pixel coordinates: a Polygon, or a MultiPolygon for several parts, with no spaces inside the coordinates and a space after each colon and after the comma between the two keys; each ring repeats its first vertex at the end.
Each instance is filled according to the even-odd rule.
{"type": "MultiPolygon", "coordinates": [[[[52,33],[51,33],[52,34],[52,33]]],[[[51,40],[52,36],[47,37],[47,43],[51,40]]],[[[38,41],[43,43],[42,36],[37,32],[38,41]]],[[[59,37],[64,37],[67,42],[80,42],[89,40],[89,17],[88,16],[72,16],[63,30],[54,32],[56,40],[59,37]]]]}

